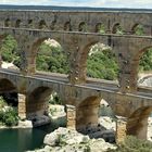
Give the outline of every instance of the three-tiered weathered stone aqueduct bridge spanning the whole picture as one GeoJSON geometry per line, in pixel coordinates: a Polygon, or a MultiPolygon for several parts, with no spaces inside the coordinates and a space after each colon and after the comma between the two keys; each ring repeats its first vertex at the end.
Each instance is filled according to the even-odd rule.
{"type": "Polygon", "coordinates": [[[152,47],[151,18],[152,13],[144,12],[0,11],[0,41],[12,35],[22,61],[20,71],[0,68],[0,92],[18,92],[18,114],[31,118],[45,113],[46,101],[54,90],[63,104],[75,106],[74,111],[67,106],[67,126],[76,127],[96,124],[100,100],[104,99],[115,115],[124,117],[117,123],[118,139],[124,132],[147,138],[152,90],[138,87],[137,78],[140,58],[152,47]],[[101,23],[106,34],[98,33],[101,23]],[[134,35],[139,24],[145,36],[134,35]],[[124,35],[115,34],[117,25],[124,35]],[[68,56],[68,76],[36,72],[38,47],[48,38],[55,39],[68,56]],[[119,65],[117,84],[86,77],[89,48],[97,42],[110,46],[115,53],[119,65]]]}

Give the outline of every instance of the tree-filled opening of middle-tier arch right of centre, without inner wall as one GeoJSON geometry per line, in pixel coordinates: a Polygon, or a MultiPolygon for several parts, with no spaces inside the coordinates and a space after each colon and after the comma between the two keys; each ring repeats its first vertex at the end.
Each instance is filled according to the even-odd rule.
{"type": "Polygon", "coordinates": [[[117,80],[118,64],[111,47],[97,42],[88,47],[87,76],[117,80]]]}

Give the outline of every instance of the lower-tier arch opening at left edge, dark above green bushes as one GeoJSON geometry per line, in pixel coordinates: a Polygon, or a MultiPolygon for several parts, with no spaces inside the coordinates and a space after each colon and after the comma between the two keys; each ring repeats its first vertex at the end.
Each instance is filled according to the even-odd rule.
{"type": "Polygon", "coordinates": [[[0,124],[16,126],[18,124],[18,94],[13,83],[0,79],[0,124]]]}

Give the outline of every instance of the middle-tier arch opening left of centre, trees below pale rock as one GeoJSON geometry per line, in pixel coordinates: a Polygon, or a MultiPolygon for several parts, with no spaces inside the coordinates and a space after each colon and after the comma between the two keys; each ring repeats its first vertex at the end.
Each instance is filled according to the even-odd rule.
{"type": "Polygon", "coordinates": [[[54,39],[45,39],[36,46],[36,69],[42,72],[68,73],[67,55],[54,39]]]}

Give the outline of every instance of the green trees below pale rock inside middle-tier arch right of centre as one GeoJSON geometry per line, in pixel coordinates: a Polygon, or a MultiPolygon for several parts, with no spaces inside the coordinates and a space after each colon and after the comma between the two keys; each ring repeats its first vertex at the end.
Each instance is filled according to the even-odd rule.
{"type": "Polygon", "coordinates": [[[93,78],[113,80],[117,78],[118,66],[110,50],[98,51],[88,56],[87,75],[93,78]]]}

